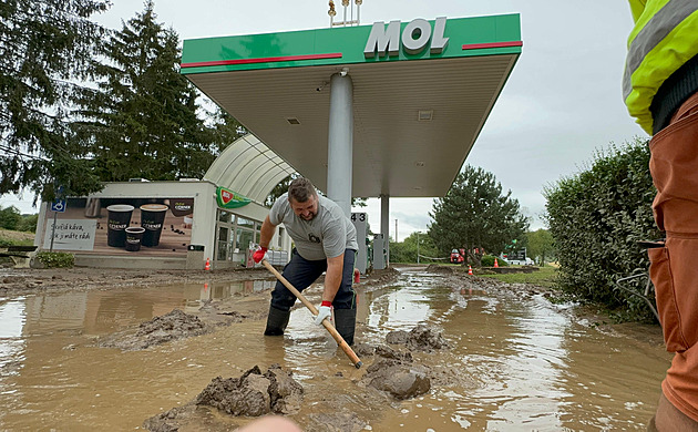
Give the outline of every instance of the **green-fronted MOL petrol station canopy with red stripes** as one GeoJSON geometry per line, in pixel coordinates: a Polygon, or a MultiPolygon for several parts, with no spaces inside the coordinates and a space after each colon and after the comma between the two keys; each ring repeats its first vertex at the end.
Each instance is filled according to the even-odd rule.
{"type": "Polygon", "coordinates": [[[448,192],[521,50],[519,14],[415,19],[186,40],[182,73],[330,198],[332,171],[355,197],[432,197],[448,192]],[[331,95],[333,76],[350,78],[348,101],[331,95]],[[331,154],[345,135],[348,175],[331,154]]]}

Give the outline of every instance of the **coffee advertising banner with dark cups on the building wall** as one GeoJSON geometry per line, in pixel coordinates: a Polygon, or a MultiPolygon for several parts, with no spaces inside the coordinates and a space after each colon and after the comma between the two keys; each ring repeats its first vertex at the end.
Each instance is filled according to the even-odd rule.
{"type": "Polygon", "coordinates": [[[194,198],[68,198],[47,209],[43,248],[99,255],[186,255],[194,198]],[[53,217],[55,216],[55,229],[53,217]]]}

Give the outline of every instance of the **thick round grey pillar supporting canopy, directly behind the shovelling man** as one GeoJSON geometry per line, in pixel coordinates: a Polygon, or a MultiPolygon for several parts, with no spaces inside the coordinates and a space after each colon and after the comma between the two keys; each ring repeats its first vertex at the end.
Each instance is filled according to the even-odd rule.
{"type": "Polygon", "coordinates": [[[353,84],[347,70],[330,79],[327,144],[327,196],[351,217],[351,165],[353,161],[353,84]]]}

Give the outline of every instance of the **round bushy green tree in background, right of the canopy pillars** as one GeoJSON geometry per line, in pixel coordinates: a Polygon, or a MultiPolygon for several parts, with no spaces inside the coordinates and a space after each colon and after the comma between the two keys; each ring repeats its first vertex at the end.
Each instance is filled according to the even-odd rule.
{"type": "Polygon", "coordinates": [[[497,255],[528,227],[512,192],[502,193],[494,174],[466,165],[446,196],[434,200],[429,236],[442,255],[464,248],[468,260],[480,266],[482,255],[497,255]]]}

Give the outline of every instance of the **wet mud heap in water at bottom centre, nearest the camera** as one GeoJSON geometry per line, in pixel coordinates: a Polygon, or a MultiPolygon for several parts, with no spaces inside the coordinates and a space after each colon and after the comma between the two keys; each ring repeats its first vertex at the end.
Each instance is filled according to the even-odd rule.
{"type": "Polygon", "coordinates": [[[292,414],[300,410],[302,387],[278,364],[263,374],[255,366],[240,378],[215,378],[196,397],[197,405],[214,407],[230,415],[292,414]]]}

